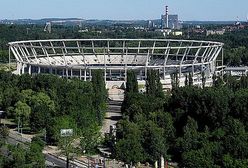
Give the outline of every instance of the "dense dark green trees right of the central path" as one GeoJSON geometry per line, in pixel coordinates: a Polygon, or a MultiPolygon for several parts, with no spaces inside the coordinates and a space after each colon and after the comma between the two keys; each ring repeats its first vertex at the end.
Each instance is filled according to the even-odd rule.
{"type": "Polygon", "coordinates": [[[148,73],[146,93],[138,92],[135,74],[128,75],[113,140],[118,159],[154,164],[163,156],[189,168],[248,166],[247,76],[162,94],[156,70],[148,73]]]}

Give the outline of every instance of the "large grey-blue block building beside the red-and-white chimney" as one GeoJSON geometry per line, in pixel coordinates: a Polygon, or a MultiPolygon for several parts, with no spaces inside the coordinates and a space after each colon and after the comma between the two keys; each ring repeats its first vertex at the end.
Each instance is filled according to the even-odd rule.
{"type": "MultiPolygon", "coordinates": [[[[166,28],[166,15],[161,16],[161,27],[162,29],[166,28]]],[[[181,29],[182,25],[178,20],[178,15],[168,15],[168,27],[169,29],[181,29]]]]}

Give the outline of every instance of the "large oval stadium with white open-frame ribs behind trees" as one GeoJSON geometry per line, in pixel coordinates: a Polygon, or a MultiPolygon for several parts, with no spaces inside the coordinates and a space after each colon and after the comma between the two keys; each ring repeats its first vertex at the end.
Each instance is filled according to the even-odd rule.
{"type": "Polygon", "coordinates": [[[10,42],[10,55],[17,63],[17,74],[50,73],[65,78],[90,80],[93,69],[102,69],[107,88],[121,86],[127,71],[137,73],[145,84],[148,69],[159,70],[164,88],[171,88],[171,74],[179,85],[193,74],[193,83],[212,84],[217,57],[223,43],[175,39],[51,39],[10,42]]]}

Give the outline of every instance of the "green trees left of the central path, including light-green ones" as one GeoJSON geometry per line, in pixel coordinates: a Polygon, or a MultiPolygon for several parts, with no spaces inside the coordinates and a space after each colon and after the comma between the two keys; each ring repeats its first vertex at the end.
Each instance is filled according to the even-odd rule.
{"type": "Polygon", "coordinates": [[[84,137],[81,151],[94,153],[106,100],[101,70],[92,72],[92,81],[0,72],[0,110],[14,119],[18,128],[42,134],[48,144],[59,142],[61,129],[73,129],[78,137],[84,137]],[[85,145],[85,141],[92,143],[85,145]]]}

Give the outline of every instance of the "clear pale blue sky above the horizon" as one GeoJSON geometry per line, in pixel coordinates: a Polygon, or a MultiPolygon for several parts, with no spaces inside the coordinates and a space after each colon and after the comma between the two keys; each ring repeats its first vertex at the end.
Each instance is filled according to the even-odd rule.
{"type": "MultiPolygon", "coordinates": [[[[181,20],[246,20],[248,0],[166,0],[181,20]]],[[[0,19],[158,19],[165,0],[1,0],[0,19]]]]}

